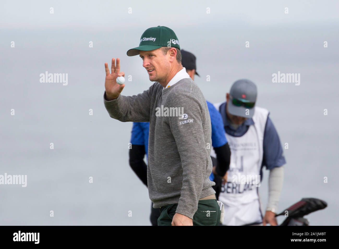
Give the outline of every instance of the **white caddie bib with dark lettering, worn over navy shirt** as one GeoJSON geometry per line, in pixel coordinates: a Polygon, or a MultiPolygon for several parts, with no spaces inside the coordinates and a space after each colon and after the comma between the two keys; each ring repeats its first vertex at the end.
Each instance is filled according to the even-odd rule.
{"type": "MultiPolygon", "coordinates": [[[[215,107],[219,110],[221,104],[215,104],[215,107]]],[[[224,225],[244,225],[261,219],[257,187],[261,180],[263,138],[268,113],[264,108],[255,107],[252,117],[254,125],[250,125],[241,137],[233,137],[225,132],[231,149],[231,163],[227,171],[227,183],[222,185],[219,194],[219,201],[225,205],[224,225]]],[[[213,149],[211,155],[216,157],[213,149]]]]}

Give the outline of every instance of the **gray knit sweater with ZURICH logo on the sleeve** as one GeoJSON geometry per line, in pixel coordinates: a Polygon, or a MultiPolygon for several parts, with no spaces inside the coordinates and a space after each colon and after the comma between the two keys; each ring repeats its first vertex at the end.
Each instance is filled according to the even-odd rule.
{"type": "Polygon", "coordinates": [[[187,78],[166,89],[155,82],[142,94],[111,101],[105,96],[111,118],[149,122],[147,183],[153,207],[178,203],[176,212],[193,219],[199,199],[215,193],[209,179],[211,119],[199,87],[187,78]]]}

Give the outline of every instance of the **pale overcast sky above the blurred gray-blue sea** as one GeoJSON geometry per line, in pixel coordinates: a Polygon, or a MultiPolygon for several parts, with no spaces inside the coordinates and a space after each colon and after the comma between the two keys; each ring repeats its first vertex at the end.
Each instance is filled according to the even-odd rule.
{"type": "Polygon", "coordinates": [[[338,23],[338,1],[1,1],[0,28],[124,29],[198,23],[317,25],[338,23]],[[50,8],[54,14],[50,14],[50,8]],[[132,14],[128,14],[131,7],[132,14]],[[288,14],[285,14],[288,7],[288,14]],[[210,8],[210,14],[207,14],[210,8]],[[141,21],[142,20],[142,21],[141,21]]]}

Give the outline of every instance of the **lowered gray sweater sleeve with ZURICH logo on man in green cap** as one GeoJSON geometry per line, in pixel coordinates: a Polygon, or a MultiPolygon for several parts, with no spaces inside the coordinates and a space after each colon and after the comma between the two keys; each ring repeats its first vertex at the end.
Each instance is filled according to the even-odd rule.
{"type": "MultiPolygon", "coordinates": [[[[191,95],[177,94],[171,98],[172,107],[183,107],[184,119],[169,117],[169,126],[181,159],[182,188],[176,212],[193,219],[206,176],[209,153],[204,138],[204,107],[191,95]],[[187,122],[186,122],[187,121],[187,122]]],[[[207,108],[206,108],[207,109],[207,108]]],[[[210,121],[208,121],[210,122],[210,121]]],[[[210,175],[211,172],[208,173],[210,175]]]]}

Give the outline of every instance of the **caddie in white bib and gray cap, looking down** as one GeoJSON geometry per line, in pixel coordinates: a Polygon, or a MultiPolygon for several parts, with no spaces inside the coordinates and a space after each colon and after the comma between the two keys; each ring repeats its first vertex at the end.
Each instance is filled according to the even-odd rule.
{"type": "Polygon", "coordinates": [[[221,113],[231,148],[227,181],[219,195],[225,207],[223,225],[277,225],[275,214],[286,161],[278,132],[268,117],[269,111],[257,107],[256,101],[256,85],[243,79],[233,83],[226,93],[226,102],[215,105],[221,113]],[[258,194],[263,166],[270,170],[264,217],[258,194]]]}

